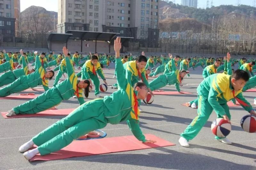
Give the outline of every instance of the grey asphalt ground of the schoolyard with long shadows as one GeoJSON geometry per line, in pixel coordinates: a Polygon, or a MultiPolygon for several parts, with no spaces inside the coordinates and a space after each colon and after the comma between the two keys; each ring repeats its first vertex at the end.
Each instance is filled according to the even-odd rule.
{"type": "MultiPolygon", "coordinates": [[[[114,63],[111,63],[110,68],[114,68],[114,63]]],[[[197,97],[196,87],[203,80],[201,67],[196,68],[196,70],[189,70],[191,78],[186,77],[184,79],[181,90],[193,94],[155,95],[151,105],[146,106],[144,103],[141,105],[144,110],[144,113],[140,115],[140,127],[143,133],[156,135],[177,145],[53,161],[29,162],[19,153],[20,145],[64,116],[15,119],[4,119],[0,116],[0,169],[256,169],[256,136],[255,133],[250,134],[243,131],[240,126],[240,119],[248,114],[242,107],[230,107],[232,131],[228,135],[228,139],[233,142],[232,145],[214,140],[211,123],[216,119],[216,114],[213,111],[203,129],[190,141],[190,147],[180,146],[178,143],[180,133],[197,115],[196,109],[181,104],[197,97]]],[[[113,78],[114,70],[104,70],[104,73],[108,85],[116,83],[116,79],[113,78]]],[[[152,79],[149,78],[149,81],[152,79]]],[[[50,86],[52,86],[53,81],[50,81],[50,86]]],[[[100,82],[103,83],[102,80],[100,82]]],[[[176,91],[174,85],[167,85],[162,90],[176,91]]],[[[115,89],[108,88],[104,95],[109,95],[114,91],[115,89]]],[[[42,92],[35,93],[40,94],[42,92]]],[[[251,104],[253,104],[255,95],[256,93],[253,92],[244,93],[245,98],[251,104]]],[[[94,98],[92,92],[89,94],[89,99],[85,100],[94,98]]],[[[26,101],[0,100],[0,111],[6,112],[26,101]]],[[[58,108],[76,108],[78,106],[77,99],[70,98],[63,101],[58,108]]],[[[117,125],[108,124],[101,130],[107,133],[107,137],[132,135],[126,122],[117,125]]]]}

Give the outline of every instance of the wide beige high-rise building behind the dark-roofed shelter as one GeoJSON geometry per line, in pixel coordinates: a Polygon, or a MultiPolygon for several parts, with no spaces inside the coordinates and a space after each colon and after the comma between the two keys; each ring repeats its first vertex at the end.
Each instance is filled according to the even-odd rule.
{"type": "Polygon", "coordinates": [[[157,42],[158,14],[158,0],[59,0],[57,32],[113,32],[157,42]]]}

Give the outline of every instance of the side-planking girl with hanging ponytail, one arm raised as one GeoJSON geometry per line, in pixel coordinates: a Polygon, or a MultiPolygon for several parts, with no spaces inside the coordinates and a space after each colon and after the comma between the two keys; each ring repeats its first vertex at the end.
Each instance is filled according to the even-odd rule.
{"type": "MultiPolygon", "coordinates": [[[[63,47],[63,54],[65,56],[70,55],[68,54],[66,47],[63,47]]],[[[87,98],[89,94],[90,82],[89,80],[79,81],[77,79],[68,57],[66,57],[66,63],[68,73],[68,78],[66,80],[56,85],[56,87],[53,87],[39,95],[35,99],[14,107],[12,110],[8,111],[6,116],[10,117],[18,114],[36,114],[59,105],[62,100],[68,100],[74,94],[76,95],[80,105],[84,104],[83,89],[84,95],[87,98]]]]}

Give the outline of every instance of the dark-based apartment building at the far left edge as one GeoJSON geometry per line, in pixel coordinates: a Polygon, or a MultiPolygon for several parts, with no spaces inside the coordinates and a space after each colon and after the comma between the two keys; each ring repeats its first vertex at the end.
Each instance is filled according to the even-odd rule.
{"type": "Polygon", "coordinates": [[[20,0],[0,0],[0,41],[14,41],[15,21],[19,15],[20,0]]]}

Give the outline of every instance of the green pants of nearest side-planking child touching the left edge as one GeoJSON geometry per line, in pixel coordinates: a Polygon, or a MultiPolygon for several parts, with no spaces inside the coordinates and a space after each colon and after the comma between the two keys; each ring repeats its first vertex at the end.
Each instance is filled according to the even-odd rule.
{"type": "Polygon", "coordinates": [[[29,85],[27,83],[26,76],[22,76],[12,82],[11,84],[5,86],[0,90],[0,97],[6,97],[10,94],[21,92],[23,90],[26,90],[29,88],[29,85]]]}

